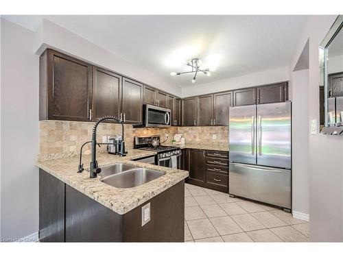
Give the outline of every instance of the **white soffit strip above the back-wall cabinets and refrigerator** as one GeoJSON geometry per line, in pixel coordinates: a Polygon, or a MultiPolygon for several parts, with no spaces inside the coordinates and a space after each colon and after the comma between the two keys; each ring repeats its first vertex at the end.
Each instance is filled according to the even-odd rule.
{"type": "Polygon", "coordinates": [[[283,82],[287,80],[289,80],[288,66],[260,71],[257,73],[249,73],[239,77],[231,77],[230,79],[223,79],[207,84],[194,84],[193,86],[182,88],[182,97],[216,93],[249,86],[272,84],[274,82],[283,82]]]}

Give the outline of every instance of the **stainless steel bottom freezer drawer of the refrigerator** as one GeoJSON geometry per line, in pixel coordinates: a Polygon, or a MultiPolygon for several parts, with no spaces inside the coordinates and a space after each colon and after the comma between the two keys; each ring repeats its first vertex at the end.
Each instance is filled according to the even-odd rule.
{"type": "Polygon", "coordinates": [[[291,170],[230,162],[228,173],[231,195],[291,208],[291,170]]]}

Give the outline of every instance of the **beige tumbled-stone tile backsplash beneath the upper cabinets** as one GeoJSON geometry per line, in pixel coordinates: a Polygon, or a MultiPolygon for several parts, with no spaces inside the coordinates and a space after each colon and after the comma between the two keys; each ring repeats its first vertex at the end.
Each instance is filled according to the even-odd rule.
{"type": "MultiPolygon", "coordinates": [[[[73,155],[78,154],[83,143],[91,140],[93,122],[79,121],[39,121],[40,128],[40,155],[73,155]]],[[[171,143],[174,134],[181,133],[186,138],[186,143],[209,144],[228,143],[228,127],[168,127],[168,128],[134,128],[124,125],[124,140],[127,149],[132,149],[134,136],[161,135],[161,140],[171,143]],[[215,138],[213,138],[215,134],[215,138]]],[[[97,140],[102,142],[102,136],[121,134],[121,125],[116,123],[101,123],[97,127],[97,140]]],[[[105,151],[102,146],[99,151],[105,151]]],[[[84,147],[85,154],[90,153],[90,144],[84,147]]]]}

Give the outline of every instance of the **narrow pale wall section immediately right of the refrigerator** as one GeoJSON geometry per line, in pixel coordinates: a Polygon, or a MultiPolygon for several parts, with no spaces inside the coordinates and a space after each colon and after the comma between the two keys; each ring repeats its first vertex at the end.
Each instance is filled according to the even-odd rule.
{"type": "Polygon", "coordinates": [[[292,73],[292,212],[309,218],[309,69],[292,73]]]}

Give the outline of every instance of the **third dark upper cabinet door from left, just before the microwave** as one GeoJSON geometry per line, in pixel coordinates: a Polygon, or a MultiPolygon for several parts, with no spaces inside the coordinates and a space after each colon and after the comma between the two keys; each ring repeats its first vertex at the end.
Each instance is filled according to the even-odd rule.
{"type": "Polygon", "coordinates": [[[121,113],[126,123],[142,123],[143,84],[123,77],[121,113]]]}

